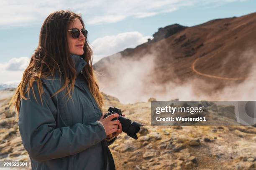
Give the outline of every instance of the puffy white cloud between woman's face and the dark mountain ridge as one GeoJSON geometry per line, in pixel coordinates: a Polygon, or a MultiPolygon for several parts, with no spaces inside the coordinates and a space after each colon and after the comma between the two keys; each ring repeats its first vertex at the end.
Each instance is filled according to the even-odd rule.
{"type": "Polygon", "coordinates": [[[137,45],[147,42],[148,38],[152,39],[153,37],[143,36],[137,31],[97,38],[91,44],[94,52],[93,62],[97,62],[102,57],[120,52],[125,48],[134,48],[137,45]]]}

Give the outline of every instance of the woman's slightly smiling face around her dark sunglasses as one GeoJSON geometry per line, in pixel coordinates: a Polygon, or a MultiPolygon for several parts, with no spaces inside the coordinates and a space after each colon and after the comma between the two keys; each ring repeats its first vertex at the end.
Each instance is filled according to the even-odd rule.
{"type": "MultiPolygon", "coordinates": [[[[83,28],[82,23],[80,20],[75,19],[70,25],[69,29],[71,30],[72,28],[77,28],[78,30],[81,30],[83,28]]],[[[73,38],[71,31],[67,32],[67,41],[69,45],[69,51],[71,54],[76,54],[76,55],[83,55],[84,54],[84,43],[85,43],[85,37],[84,35],[80,32],[80,36],[78,38],[73,38]]]]}

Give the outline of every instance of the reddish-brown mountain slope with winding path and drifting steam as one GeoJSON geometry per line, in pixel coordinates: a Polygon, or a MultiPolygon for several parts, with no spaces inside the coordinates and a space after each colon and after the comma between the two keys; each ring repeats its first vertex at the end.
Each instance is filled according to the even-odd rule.
{"type": "Polygon", "coordinates": [[[153,95],[161,98],[167,89],[181,85],[209,96],[253,80],[255,32],[256,13],[192,27],[169,25],[159,28],[153,40],[102,58],[94,68],[101,73],[100,84],[105,92],[118,97],[130,90],[136,96],[118,97],[121,102],[146,101],[153,95]]]}

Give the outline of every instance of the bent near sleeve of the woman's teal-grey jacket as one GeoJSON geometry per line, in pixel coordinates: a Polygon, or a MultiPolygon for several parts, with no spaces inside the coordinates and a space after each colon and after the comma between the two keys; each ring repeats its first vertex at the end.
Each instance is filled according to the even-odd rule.
{"type": "MultiPolygon", "coordinates": [[[[24,148],[36,161],[45,161],[74,155],[107,138],[99,121],[89,125],[82,123],[72,127],[56,128],[56,106],[44,86],[41,103],[36,83],[33,95],[30,89],[28,100],[20,102],[19,130],[24,148]]],[[[28,97],[28,93],[26,93],[28,97]]]]}

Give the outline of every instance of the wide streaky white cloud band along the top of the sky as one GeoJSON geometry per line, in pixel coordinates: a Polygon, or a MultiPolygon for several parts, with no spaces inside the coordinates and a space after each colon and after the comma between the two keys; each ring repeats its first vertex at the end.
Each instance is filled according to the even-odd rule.
{"type": "Polygon", "coordinates": [[[24,26],[42,21],[56,10],[70,9],[82,13],[86,23],[97,25],[116,23],[128,17],[145,18],[170,13],[182,6],[224,4],[245,0],[1,0],[0,26],[24,26]]]}

